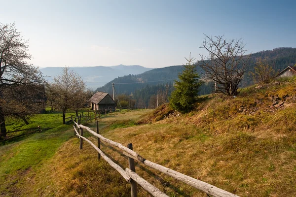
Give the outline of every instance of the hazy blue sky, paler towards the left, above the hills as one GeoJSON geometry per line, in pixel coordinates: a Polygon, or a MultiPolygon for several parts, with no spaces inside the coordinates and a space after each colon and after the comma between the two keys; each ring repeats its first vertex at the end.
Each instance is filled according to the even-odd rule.
{"type": "Polygon", "coordinates": [[[207,35],[243,37],[249,53],[296,47],[295,0],[0,0],[0,22],[29,39],[37,66],[185,63],[207,35]]]}

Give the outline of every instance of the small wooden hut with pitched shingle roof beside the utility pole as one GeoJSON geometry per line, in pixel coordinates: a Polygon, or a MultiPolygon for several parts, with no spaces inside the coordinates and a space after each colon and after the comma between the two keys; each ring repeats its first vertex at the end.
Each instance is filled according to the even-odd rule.
{"type": "Polygon", "coordinates": [[[90,99],[90,107],[92,110],[99,109],[115,109],[116,103],[108,93],[97,92],[90,99]]]}

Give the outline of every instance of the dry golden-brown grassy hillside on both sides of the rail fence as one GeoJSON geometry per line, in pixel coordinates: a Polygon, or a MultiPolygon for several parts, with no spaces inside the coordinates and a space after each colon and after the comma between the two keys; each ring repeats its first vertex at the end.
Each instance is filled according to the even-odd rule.
{"type": "MultiPolygon", "coordinates": [[[[168,105],[154,111],[125,111],[101,119],[100,132],[123,145],[133,143],[134,150],[152,162],[241,197],[296,196],[295,87],[296,80],[291,79],[245,88],[236,98],[210,95],[189,114],[168,105]]],[[[88,126],[94,128],[94,123],[88,126]]],[[[72,130],[69,133],[73,135],[72,130]]],[[[16,170],[23,177],[19,182],[9,182],[13,174],[6,176],[11,184],[4,184],[6,190],[36,197],[130,196],[129,185],[105,161],[97,161],[92,147],[86,143],[83,150],[78,147],[77,138],[60,143],[38,167],[16,170]]],[[[128,166],[120,151],[105,145],[102,150],[128,166]]],[[[5,161],[12,154],[16,153],[5,153],[5,161]]],[[[171,197],[206,196],[142,164],[136,164],[136,171],[171,197]]],[[[3,187],[1,192],[7,194],[3,187]]],[[[140,189],[139,196],[149,195],[140,189]]]]}

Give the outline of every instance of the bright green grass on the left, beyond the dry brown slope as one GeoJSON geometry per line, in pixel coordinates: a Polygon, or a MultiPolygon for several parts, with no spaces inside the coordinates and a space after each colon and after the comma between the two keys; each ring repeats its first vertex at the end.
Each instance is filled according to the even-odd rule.
{"type": "MultiPolygon", "coordinates": [[[[67,113],[67,117],[72,114],[74,113],[67,113]]],[[[72,124],[62,124],[62,114],[59,112],[37,114],[30,118],[29,125],[12,118],[7,118],[5,123],[7,131],[37,126],[42,130],[15,137],[0,144],[0,182],[2,183],[0,191],[6,191],[9,194],[11,184],[21,184],[24,172],[36,171],[56,153],[63,142],[74,136],[74,131],[72,124]]],[[[28,131],[15,132],[12,136],[26,132],[28,131]]]]}

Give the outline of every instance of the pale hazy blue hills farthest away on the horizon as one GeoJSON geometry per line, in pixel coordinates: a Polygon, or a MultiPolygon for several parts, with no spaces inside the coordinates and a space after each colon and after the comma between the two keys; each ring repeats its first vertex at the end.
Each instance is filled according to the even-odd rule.
{"type": "MultiPolygon", "coordinates": [[[[77,72],[86,82],[87,88],[96,89],[99,86],[103,86],[112,79],[128,74],[140,74],[145,71],[151,70],[139,65],[133,66],[89,66],[89,67],[71,67],[77,72]]],[[[43,76],[46,76],[49,82],[52,81],[53,76],[59,75],[62,71],[62,67],[45,67],[40,68],[43,76]]]]}

